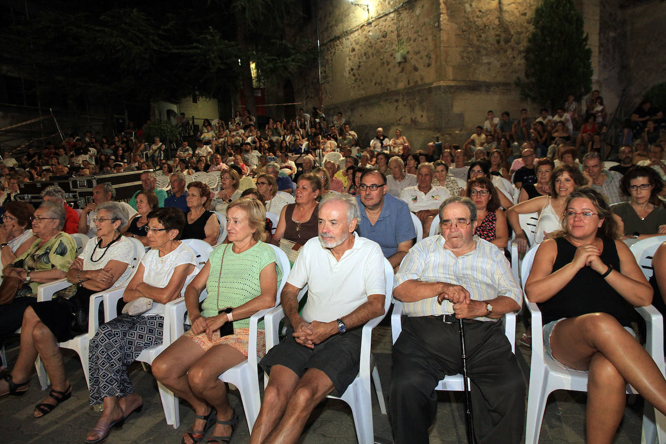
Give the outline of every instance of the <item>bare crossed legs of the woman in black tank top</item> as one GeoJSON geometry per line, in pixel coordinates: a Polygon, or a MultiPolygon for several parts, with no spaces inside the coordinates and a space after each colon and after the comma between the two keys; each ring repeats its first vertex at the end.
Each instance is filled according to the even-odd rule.
{"type": "Polygon", "coordinates": [[[666,412],[666,380],[647,351],[612,316],[593,313],[559,322],[551,349],[561,363],[589,370],[587,442],[612,441],[624,411],[625,381],[666,412]]]}

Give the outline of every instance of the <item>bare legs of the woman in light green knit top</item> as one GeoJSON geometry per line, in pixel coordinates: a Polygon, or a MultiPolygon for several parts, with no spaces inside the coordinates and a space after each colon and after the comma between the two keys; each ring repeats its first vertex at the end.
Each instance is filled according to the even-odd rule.
{"type": "MultiPolygon", "coordinates": [[[[215,345],[204,352],[192,339],[181,336],[155,359],[153,375],[176,396],[188,401],[197,415],[208,415],[212,406],[217,419],[228,421],[233,411],[218,376],[246,358],[230,345],[215,345]]],[[[192,430],[200,433],[204,425],[202,419],[196,419],[192,430]]],[[[231,426],[218,424],[213,434],[228,436],[231,426]]]]}

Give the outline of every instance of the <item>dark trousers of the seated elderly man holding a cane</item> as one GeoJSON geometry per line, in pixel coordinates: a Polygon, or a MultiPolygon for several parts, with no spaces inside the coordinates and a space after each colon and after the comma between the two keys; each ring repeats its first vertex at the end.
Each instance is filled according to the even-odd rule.
{"type": "MultiPolygon", "coordinates": [[[[465,322],[474,434],[479,444],[517,443],[525,416],[525,381],[501,323],[465,322]]],[[[428,443],[437,412],[435,387],[462,373],[458,322],[404,318],[393,346],[390,413],[396,444],[428,443]]]]}

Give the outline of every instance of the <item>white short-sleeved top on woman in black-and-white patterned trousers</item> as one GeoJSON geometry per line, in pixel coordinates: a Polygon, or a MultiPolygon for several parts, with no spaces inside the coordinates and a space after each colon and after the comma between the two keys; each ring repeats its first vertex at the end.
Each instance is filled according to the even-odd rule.
{"type": "Polygon", "coordinates": [[[159,250],[157,248],[149,250],[141,259],[141,264],[144,266],[143,282],[158,288],[165,288],[168,285],[177,266],[192,264],[194,270],[187,276],[185,284],[182,286],[182,290],[180,290],[180,296],[184,294],[187,285],[199,272],[196,254],[194,254],[192,248],[182,242],[180,242],[180,245],[175,250],[162,257],[159,257],[159,250]]]}

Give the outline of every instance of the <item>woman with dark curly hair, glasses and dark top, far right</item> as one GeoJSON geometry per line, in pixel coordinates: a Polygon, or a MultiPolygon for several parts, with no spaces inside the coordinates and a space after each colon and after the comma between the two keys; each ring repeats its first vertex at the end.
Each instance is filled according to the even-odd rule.
{"type": "Polygon", "coordinates": [[[661,177],[649,166],[633,166],[622,176],[620,191],[629,196],[629,202],[611,207],[622,240],[666,234],[666,210],[658,197],[663,187],[661,177]]]}

